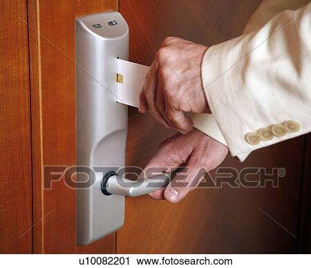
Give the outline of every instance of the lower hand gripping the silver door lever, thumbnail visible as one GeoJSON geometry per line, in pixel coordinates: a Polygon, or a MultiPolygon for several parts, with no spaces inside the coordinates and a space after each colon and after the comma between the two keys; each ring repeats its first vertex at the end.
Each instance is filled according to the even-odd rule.
{"type": "Polygon", "coordinates": [[[227,153],[227,146],[195,128],[186,135],[173,135],[161,144],[160,150],[142,174],[147,178],[156,175],[155,169],[156,173],[163,173],[176,171],[180,166],[185,166],[185,171],[177,173],[166,189],[149,193],[150,197],[154,200],[166,199],[171,203],[179,202],[198,186],[207,171],[215,169],[225,160],[227,153]]]}

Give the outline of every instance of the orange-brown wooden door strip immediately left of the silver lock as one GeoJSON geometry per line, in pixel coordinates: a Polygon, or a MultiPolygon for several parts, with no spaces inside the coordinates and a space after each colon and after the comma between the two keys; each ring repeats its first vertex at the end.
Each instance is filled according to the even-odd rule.
{"type": "Polygon", "coordinates": [[[75,17],[116,10],[116,0],[28,0],[35,253],[113,253],[115,234],[76,243],[76,193],[64,178],[44,189],[47,165],[76,165],[75,17]]]}

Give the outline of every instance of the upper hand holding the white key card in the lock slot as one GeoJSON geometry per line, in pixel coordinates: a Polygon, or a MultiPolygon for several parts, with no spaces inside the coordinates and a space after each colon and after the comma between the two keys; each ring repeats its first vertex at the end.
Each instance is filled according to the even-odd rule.
{"type": "Polygon", "coordinates": [[[192,120],[184,112],[210,113],[202,87],[201,62],[207,46],[167,37],[151,64],[140,92],[140,112],[188,133],[192,120]]]}

